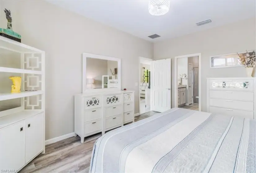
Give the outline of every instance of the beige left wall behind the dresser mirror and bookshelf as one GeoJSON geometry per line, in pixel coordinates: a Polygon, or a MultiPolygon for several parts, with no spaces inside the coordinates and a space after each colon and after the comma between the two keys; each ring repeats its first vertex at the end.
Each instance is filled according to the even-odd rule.
{"type": "Polygon", "coordinates": [[[82,92],[82,53],[122,59],[122,87],[135,91],[139,112],[138,57],[153,57],[153,44],[67,11],[47,1],[0,1],[0,27],[7,27],[4,8],[22,43],[46,53],[46,137],[74,132],[74,94],[82,92]]]}

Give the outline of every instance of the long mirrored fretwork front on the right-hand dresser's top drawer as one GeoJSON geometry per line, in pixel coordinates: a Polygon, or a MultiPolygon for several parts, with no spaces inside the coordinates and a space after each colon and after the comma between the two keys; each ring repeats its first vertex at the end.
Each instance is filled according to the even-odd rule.
{"type": "Polygon", "coordinates": [[[237,81],[227,81],[227,82],[212,82],[213,88],[249,88],[250,82],[237,82],[237,81]]]}

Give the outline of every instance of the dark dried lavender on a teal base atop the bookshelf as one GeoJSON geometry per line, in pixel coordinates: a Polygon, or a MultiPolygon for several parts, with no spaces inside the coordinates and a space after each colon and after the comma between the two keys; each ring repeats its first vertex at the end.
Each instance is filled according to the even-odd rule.
{"type": "Polygon", "coordinates": [[[14,41],[21,42],[21,36],[20,36],[20,34],[18,34],[18,33],[14,32],[14,31],[12,31],[11,11],[10,11],[10,10],[7,10],[7,9],[5,8],[4,12],[5,12],[6,19],[7,19],[7,29],[0,28],[0,36],[9,38],[9,39],[14,40],[14,41]]]}

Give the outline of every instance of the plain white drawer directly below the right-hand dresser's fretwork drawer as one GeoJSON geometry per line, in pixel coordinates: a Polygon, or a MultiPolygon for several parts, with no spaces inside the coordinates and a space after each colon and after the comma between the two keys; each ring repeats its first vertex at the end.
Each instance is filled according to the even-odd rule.
{"type": "Polygon", "coordinates": [[[235,99],[235,100],[254,101],[254,92],[210,90],[209,97],[210,98],[219,98],[219,99],[235,99]]]}

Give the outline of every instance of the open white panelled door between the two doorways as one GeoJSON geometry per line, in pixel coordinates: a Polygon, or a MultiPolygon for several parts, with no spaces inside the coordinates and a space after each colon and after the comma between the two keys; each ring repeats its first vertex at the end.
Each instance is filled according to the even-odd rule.
{"type": "Polygon", "coordinates": [[[171,109],[171,59],[152,61],[152,111],[171,109]]]}

